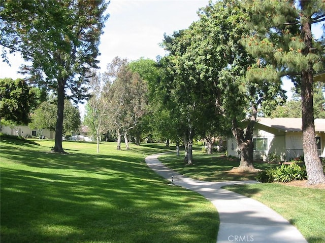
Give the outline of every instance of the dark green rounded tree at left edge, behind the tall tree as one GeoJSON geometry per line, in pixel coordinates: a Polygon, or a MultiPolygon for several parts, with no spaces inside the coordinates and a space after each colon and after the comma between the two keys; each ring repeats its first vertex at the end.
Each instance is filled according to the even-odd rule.
{"type": "Polygon", "coordinates": [[[27,125],[36,100],[35,90],[24,79],[0,79],[0,119],[27,125]]]}

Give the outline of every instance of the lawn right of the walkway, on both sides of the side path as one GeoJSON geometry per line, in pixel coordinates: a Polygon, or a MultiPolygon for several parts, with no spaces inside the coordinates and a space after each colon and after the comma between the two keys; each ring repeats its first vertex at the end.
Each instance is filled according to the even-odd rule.
{"type": "MultiPolygon", "coordinates": [[[[206,181],[254,180],[254,174],[232,174],[239,160],[222,157],[221,154],[205,154],[194,151],[193,166],[184,166],[183,156],[166,154],[159,157],[168,167],[194,179],[206,181]]],[[[257,169],[276,165],[255,163],[257,169]]],[[[251,197],[281,214],[295,225],[309,243],[325,242],[325,189],[289,186],[283,183],[258,183],[226,186],[225,189],[251,197]]]]}

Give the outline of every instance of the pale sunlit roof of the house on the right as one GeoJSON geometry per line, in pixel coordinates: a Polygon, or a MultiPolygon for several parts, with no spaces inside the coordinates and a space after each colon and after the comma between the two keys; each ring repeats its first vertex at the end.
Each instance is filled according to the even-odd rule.
{"type": "MultiPolygon", "coordinates": [[[[285,132],[301,132],[302,118],[257,117],[257,123],[285,132]]],[[[325,119],[315,119],[315,132],[325,132],[325,119]]]]}

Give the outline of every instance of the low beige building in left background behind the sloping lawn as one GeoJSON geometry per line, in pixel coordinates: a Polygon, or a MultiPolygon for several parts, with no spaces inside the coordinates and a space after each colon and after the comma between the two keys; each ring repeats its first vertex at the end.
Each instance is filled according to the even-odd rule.
{"type": "Polygon", "coordinates": [[[2,126],[1,132],[13,136],[21,137],[40,137],[47,139],[54,139],[55,132],[50,131],[49,129],[30,129],[28,126],[2,126]]]}

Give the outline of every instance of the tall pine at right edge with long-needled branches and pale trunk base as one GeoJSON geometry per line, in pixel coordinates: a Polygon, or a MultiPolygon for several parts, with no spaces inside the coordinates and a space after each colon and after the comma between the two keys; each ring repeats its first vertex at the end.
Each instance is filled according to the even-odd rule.
{"type": "MultiPolygon", "coordinates": [[[[288,76],[301,89],[303,148],[310,184],[325,183],[317,154],[313,115],[313,74],[324,69],[324,42],[313,38],[312,25],[325,21],[325,3],[314,1],[245,1],[252,29],[246,50],[262,65],[253,76],[288,76]]],[[[324,35],[323,35],[324,36],[324,35]]]]}

